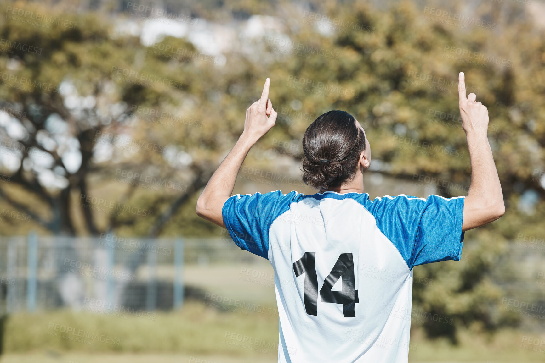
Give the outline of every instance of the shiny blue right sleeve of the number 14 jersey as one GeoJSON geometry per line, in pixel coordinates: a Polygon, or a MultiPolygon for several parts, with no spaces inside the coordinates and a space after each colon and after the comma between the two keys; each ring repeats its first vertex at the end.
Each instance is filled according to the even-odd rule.
{"type": "Polygon", "coordinates": [[[398,195],[375,199],[368,210],[409,268],[446,260],[459,261],[464,232],[464,197],[427,199],[398,195]]]}

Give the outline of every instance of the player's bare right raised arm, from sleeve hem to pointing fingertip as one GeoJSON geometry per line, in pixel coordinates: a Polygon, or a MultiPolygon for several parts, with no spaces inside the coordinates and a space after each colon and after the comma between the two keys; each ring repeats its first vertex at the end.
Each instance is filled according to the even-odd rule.
{"type": "Polygon", "coordinates": [[[488,110],[475,101],[475,94],[465,97],[465,76],[458,75],[458,94],[462,128],[468,139],[471,159],[471,184],[464,200],[462,231],[480,227],[505,213],[498,171],[488,143],[488,110]]]}

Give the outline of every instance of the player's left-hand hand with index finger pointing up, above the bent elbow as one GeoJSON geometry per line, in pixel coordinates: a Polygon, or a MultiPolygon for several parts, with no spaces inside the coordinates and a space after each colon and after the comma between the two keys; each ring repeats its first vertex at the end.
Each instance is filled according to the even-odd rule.
{"type": "Polygon", "coordinates": [[[261,99],[254,102],[246,110],[243,136],[249,138],[253,143],[256,143],[259,138],[269,132],[276,122],[276,116],[278,116],[278,113],[272,108],[272,103],[269,100],[270,83],[271,80],[267,78],[261,99]]]}

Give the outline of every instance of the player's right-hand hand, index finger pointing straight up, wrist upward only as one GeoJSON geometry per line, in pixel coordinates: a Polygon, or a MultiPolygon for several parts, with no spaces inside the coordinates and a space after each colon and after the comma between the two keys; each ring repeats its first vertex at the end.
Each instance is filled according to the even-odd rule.
{"type": "Polygon", "coordinates": [[[458,75],[458,96],[460,98],[460,116],[462,116],[462,128],[465,133],[488,130],[488,109],[481,102],[475,101],[476,95],[470,93],[465,97],[465,75],[458,75]]]}

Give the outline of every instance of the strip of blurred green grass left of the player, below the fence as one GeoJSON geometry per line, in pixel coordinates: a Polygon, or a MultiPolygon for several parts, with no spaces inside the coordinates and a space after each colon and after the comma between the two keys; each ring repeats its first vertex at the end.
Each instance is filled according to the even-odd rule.
{"type": "MultiPolygon", "coordinates": [[[[187,303],[181,311],[157,313],[155,320],[134,315],[112,317],[92,312],[66,310],[17,313],[5,324],[4,352],[185,352],[250,356],[252,352],[226,344],[229,334],[243,334],[254,339],[278,342],[278,316],[247,312],[225,312],[202,303],[187,303]],[[125,316],[124,316],[125,317],[125,316]],[[58,324],[58,325],[56,325],[58,324]],[[52,336],[70,328],[68,336],[78,333],[90,344],[52,336]],[[81,330],[80,330],[81,329],[81,330]]],[[[270,352],[276,356],[277,352],[270,352]]]]}

